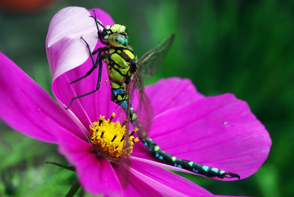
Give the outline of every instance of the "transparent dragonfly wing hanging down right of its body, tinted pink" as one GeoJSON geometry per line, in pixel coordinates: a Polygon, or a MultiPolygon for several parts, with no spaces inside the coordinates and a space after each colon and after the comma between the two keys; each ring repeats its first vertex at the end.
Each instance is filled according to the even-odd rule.
{"type": "Polygon", "coordinates": [[[153,119],[152,105],[144,91],[144,83],[140,70],[137,68],[134,72],[134,87],[138,96],[138,108],[136,109],[136,114],[141,122],[145,132],[148,133],[151,127],[153,119]]]}

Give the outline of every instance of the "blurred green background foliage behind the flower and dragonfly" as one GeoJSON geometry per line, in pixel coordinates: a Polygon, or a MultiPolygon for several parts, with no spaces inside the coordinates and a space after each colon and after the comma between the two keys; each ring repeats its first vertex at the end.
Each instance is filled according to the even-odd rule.
{"type": "MultiPolygon", "coordinates": [[[[130,44],[139,57],[176,33],[168,58],[145,83],[179,76],[191,79],[207,96],[231,92],[248,102],[270,133],[269,157],[247,179],[228,182],[180,175],[215,195],[294,196],[293,1],[59,0],[25,13],[2,7],[0,50],[51,95],[45,38],[51,18],[67,6],[104,9],[132,30],[130,44]]],[[[66,164],[56,145],[19,134],[3,122],[0,135],[0,196],[67,193],[75,174],[44,164],[66,164]]]]}

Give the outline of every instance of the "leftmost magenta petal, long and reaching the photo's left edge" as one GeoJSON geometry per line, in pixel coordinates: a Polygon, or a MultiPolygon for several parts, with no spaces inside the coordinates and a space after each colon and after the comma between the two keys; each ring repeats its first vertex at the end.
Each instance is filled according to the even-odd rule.
{"type": "Polygon", "coordinates": [[[50,95],[1,52],[0,98],[1,119],[20,133],[56,143],[54,133],[68,129],[87,140],[50,95]]]}

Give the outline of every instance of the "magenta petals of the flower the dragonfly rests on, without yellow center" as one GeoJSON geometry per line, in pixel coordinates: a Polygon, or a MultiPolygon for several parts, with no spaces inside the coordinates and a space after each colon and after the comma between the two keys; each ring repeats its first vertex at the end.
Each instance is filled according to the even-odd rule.
{"type": "MultiPolygon", "coordinates": [[[[95,11],[102,24],[114,24],[104,11],[95,11]]],[[[83,35],[91,48],[103,46],[98,42],[90,14],[84,8],[64,8],[49,26],[46,46],[53,75],[52,91],[62,108],[0,52],[0,118],[20,133],[57,143],[59,152],[75,167],[81,186],[90,194],[212,196],[195,183],[160,168],[187,172],[163,164],[141,142],[134,145],[130,156],[129,183],[125,188],[121,186],[119,164],[97,154],[88,138],[89,125],[98,121],[100,114],[110,118],[116,112],[116,104],[110,101],[110,85],[103,82],[108,78],[105,65],[100,89],[76,99],[70,110],[64,110],[72,97],[96,87],[97,71],[70,84],[92,67],[80,37],[83,35]]],[[[181,159],[238,173],[241,179],[255,173],[266,160],[271,146],[269,133],[247,103],[234,95],[205,97],[190,80],[175,77],[161,79],[145,91],[154,110],[148,134],[162,150],[181,159]]],[[[132,104],[136,109],[136,103],[132,104]]]]}

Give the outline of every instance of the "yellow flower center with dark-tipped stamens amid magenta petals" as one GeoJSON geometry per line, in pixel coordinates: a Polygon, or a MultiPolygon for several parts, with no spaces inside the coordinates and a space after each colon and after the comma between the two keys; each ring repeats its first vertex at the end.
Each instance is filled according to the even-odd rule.
{"type": "Polygon", "coordinates": [[[96,147],[98,152],[104,155],[108,160],[117,161],[124,152],[125,156],[130,156],[133,152],[134,143],[138,138],[129,137],[131,146],[123,149],[123,135],[126,131],[125,126],[121,126],[119,122],[112,122],[115,113],[112,113],[111,118],[105,120],[104,116],[100,115],[99,122],[94,122],[93,127],[90,125],[90,141],[96,147]]]}

